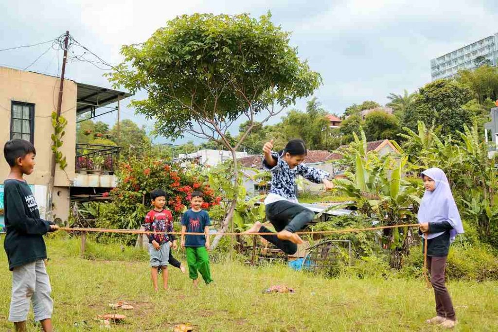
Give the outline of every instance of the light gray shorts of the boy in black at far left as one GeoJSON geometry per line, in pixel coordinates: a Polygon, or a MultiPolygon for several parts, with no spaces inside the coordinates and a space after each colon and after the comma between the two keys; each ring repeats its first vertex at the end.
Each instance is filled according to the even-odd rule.
{"type": "Polygon", "coordinates": [[[12,271],[12,297],[10,300],[10,322],[24,322],[33,303],[34,320],[39,322],[52,317],[54,301],[50,297],[52,288],[45,262],[37,260],[15,267],[12,271]]]}

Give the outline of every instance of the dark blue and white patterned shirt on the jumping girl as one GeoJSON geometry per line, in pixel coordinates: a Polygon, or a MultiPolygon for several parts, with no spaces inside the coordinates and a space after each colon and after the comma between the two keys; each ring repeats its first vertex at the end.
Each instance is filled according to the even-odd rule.
{"type": "Polygon", "coordinates": [[[280,200],[297,203],[295,194],[296,176],[301,175],[306,180],[322,183],[329,177],[329,173],[302,163],[291,169],[278,153],[272,152],[271,156],[277,161],[270,167],[263,158],[263,168],[271,172],[270,193],[264,203],[271,204],[280,200]]]}

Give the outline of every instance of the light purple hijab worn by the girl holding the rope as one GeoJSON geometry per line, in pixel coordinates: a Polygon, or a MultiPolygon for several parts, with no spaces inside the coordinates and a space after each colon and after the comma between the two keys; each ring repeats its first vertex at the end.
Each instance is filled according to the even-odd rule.
{"type": "MultiPolygon", "coordinates": [[[[418,223],[448,221],[453,226],[450,230],[450,241],[453,242],[457,234],[464,232],[464,227],[446,174],[440,168],[429,168],[422,175],[434,180],[436,189],[432,192],[425,191],[417,215],[418,223]]],[[[429,233],[428,239],[443,233],[429,233]]]]}

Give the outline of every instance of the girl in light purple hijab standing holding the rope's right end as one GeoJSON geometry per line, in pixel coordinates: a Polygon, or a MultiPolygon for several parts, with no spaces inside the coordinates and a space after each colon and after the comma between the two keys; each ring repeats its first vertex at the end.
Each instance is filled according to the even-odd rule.
{"type": "Polygon", "coordinates": [[[456,316],[450,294],[444,284],[446,258],[450,242],[453,242],[457,234],[463,233],[464,229],[444,172],[439,168],[430,168],[422,172],[422,179],[425,193],[417,218],[420,231],[424,233],[423,241],[427,236],[427,265],[434,288],[437,314],[427,320],[427,323],[440,324],[451,329],[456,324],[456,316]]]}

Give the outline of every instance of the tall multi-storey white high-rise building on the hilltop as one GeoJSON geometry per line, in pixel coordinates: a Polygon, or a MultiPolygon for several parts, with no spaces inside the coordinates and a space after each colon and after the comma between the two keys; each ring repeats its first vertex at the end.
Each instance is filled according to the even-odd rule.
{"type": "Polygon", "coordinates": [[[455,76],[461,69],[474,69],[477,57],[490,60],[492,66],[498,62],[498,33],[459,48],[431,60],[432,81],[455,76]]]}

